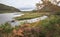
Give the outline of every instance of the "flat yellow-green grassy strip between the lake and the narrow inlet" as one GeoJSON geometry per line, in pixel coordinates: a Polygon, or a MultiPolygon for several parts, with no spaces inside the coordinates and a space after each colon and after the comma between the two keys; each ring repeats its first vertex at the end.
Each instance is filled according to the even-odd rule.
{"type": "Polygon", "coordinates": [[[40,16],[43,16],[45,13],[38,13],[38,12],[22,12],[24,15],[20,17],[16,17],[16,20],[27,20],[27,19],[33,19],[40,16]]]}

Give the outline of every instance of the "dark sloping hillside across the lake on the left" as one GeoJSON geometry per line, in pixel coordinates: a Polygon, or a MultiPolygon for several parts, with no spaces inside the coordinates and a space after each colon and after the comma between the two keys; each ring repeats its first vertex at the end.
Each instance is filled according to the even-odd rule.
{"type": "Polygon", "coordinates": [[[20,12],[20,10],[12,6],[0,4],[0,12],[20,12]]]}

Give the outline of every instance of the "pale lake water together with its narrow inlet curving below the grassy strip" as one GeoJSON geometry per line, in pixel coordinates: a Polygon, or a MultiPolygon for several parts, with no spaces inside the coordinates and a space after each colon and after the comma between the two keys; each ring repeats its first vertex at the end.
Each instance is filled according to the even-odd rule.
{"type": "Polygon", "coordinates": [[[44,19],[47,18],[47,16],[42,16],[42,17],[29,19],[29,20],[11,22],[12,20],[15,20],[15,19],[13,19],[14,17],[22,16],[22,15],[24,15],[24,14],[22,14],[22,13],[4,13],[4,14],[0,14],[0,24],[4,24],[6,22],[9,22],[12,26],[15,26],[15,25],[20,25],[20,22],[34,23],[34,22],[37,22],[39,20],[44,20],[44,19]]]}

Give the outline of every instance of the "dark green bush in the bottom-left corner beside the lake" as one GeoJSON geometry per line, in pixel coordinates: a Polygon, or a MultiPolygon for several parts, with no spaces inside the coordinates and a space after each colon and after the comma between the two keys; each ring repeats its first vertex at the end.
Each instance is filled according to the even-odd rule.
{"type": "Polygon", "coordinates": [[[13,27],[9,23],[0,25],[0,37],[11,37],[13,27]]]}

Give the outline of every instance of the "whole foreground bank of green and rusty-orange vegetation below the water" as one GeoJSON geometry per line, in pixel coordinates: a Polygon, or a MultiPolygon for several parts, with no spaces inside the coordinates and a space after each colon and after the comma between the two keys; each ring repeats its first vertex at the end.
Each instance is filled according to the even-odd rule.
{"type": "Polygon", "coordinates": [[[45,20],[14,28],[6,23],[0,26],[0,34],[1,37],[60,37],[60,16],[51,15],[45,20]]]}

